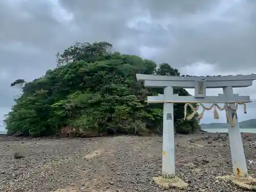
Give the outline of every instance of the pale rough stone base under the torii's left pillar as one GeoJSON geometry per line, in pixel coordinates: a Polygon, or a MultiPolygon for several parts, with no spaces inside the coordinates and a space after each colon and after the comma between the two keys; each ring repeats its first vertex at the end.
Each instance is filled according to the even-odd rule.
{"type": "Polygon", "coordinates": [[[153,177],[153,180],[155,183],[161,187],[164,188],[179,188],[184,189],[188,186],[187,183],[185,183],[182,179],[179,177],[174,178],[163,178],[162,176],[159,177],[153,177]]]}

